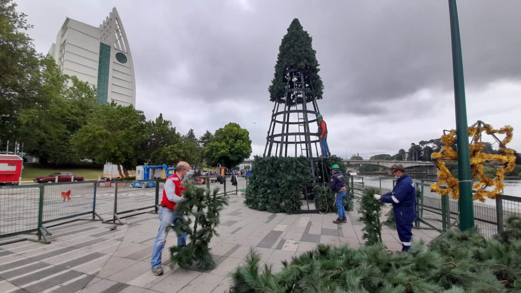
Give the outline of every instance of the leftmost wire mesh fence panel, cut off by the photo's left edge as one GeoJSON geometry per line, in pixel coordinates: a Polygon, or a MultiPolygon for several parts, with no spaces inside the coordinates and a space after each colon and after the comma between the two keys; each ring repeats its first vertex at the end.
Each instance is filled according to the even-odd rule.
{"type": "Polygon", "coordinates": [[[40,186],[0,187],[0,237],[38,229],[40,186]]]}

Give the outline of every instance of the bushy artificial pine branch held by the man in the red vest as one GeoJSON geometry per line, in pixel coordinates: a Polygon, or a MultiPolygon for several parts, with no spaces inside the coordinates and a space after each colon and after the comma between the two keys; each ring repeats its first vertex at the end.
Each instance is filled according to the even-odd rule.
{"type": "Polygon", "coordinates": [[[187,188],[183,194],[185,200],[176,206],[179,220],[171,229],[177,235],[187,233],[190,241],[185,246],[170,247],[170,259],[172,266],[177,264],[182,268],[195,266],[199,270],[210,270],[216,264],[208,245],[213,236],[219,236],[215,228],[220,222],[219,213],[228,205],[228,200],[217,194],[218,188],[205,192],[205,189],[196,188],[193,183],[187,184],[187,188]]]}

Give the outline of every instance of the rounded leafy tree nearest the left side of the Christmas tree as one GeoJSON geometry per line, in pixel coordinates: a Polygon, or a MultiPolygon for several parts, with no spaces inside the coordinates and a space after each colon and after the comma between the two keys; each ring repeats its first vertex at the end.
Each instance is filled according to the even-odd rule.
{"type": "Polygon", "coordinates": [[[215,131],[214,140],[206,146],[208,164],[232,168],[252,153],[250,133],[237,123],[228,123],[215,131]]]}

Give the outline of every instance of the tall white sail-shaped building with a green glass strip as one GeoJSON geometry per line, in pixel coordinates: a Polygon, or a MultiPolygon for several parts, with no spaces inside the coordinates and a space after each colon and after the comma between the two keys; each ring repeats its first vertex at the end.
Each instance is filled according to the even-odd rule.
{"type": "Polygon", "coordinates": [[[95,86],[99,103],[135,105],[132,54],[116,8],[99,27],[67,18],[48,54],[61,72],[95,86]]]}

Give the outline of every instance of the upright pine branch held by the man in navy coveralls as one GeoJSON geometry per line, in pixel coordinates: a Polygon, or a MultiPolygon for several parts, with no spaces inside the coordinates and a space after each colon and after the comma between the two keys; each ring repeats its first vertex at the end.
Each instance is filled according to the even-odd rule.
{"type": "Polygon", "coordinates": [[[360,202],[360,212],[362,221],[365,226],[363,238],[366,240],[366,245],[373,245],[382,242],[382,224],[380,222],[380,210],[383,203],[375,200],[373,196],[378,192],[376,189],[365,189],[360,202]]]}

